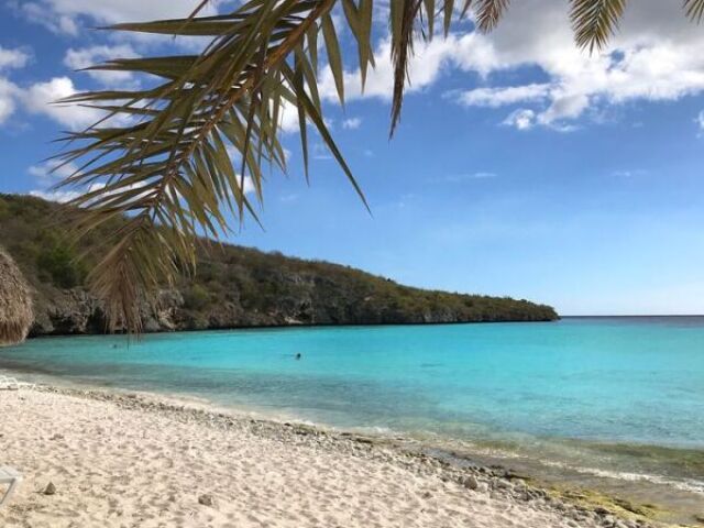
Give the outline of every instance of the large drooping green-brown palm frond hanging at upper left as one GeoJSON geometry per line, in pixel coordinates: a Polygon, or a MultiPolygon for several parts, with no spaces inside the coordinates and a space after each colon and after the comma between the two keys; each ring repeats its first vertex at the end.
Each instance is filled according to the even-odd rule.
{"type": "Polygon", "coordinates": [[[134,308],[140,292],[191,271],[197,235],[226,232],[227,210],[254,215],[244,178],[261,200],[262,163],[285,169],[277,121],[284,106],[302,109],[301,136],[310,122],[359,190],[322,120],[315,74],[301,51],[304,36],[321,18],[329,20],[333,3],[252,0],[234,13],[202,21],[121,25],[128,31],[210,33],[213,42],[198,56],[99,66],[148,74],[161,79],[154,88],[68,99],[103,108],[110,122],[128,123],[69,134],[66,139],[80,145],[62,156],[64,163],[84,162],[65,185],[94,186],[73,202],[87,210],[79,231],[118,215],[129,218],[106,241],[110,250],[90,276],[97,293],[109,299],[113,328],[140,329],[134,308]],[[292,55],[297,58],[288,64],[292,55]],[[240,174],[228,148],[242,158],[240,174]]]}

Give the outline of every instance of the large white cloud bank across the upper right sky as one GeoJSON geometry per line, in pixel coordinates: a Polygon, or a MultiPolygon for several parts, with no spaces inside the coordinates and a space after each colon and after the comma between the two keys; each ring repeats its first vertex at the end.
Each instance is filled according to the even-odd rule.
{"type": "MultiPolygon", "coordinates": [[[[453,91],[464,106],[497,108],[520,105],[504,123],[527,130],[536,125],[570,130],[575,120],[630,101],[676,100],[704,91],[704,32],[684,16],[681,6],[662,0],[629,4],[620,31],[604,53],[574,45],[565,2],[524,0],[488,35],[451,34],[418,42],[410,61],[408,92],[427,89],[453,68],[479,74],[484,87],[453,91]],[[492,74],[537,70],[546,80],[493,85],[492,74]],[[588,112],[593,110],[592,112],[588,112]]],[[[345,72],[345,97],[388,100],[393,91],[389,41],[376,47],[377,66],[362,94],[359,70],[345,72]]],[[[321,73],[321,94],[337,99],[329,68],[321,73]]]]}

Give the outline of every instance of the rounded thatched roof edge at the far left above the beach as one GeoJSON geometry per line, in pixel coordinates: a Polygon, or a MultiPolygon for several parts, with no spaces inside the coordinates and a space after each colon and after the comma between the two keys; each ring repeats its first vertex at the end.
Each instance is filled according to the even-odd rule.
{"type": "Polygon", "coordinates": [[[12,257],[0,248],[0,346],[24,341],[33,320],[30,287],[12,257]]]}

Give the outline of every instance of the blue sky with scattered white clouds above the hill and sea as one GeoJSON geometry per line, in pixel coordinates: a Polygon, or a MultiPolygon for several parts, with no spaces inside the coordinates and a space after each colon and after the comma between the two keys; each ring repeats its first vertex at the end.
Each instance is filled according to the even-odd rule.
{"type": "MultiPolygon", "coordinates": [[[[62,130],[95,116],[47,101],[139,82],[74,69],[197,46],[89,28],[194,3],[0,0],[0,191],[61,198],[42,160],[62,130]]],[[[372,215],[316,146],[308,186],[297,136],[285,133],[290,174],[267,180],[264,230],[249,222],[231,240],[415,286],[530,298],[563,315],[704,312],[704,28],[684,20],[679,1],[631,3],[612,47],[592,56],[572,46],[566,9],[553,0],[515,2],[488,36],[465,23],[448,41],[418,43],[391,142],[380,26],[364,95],[348,61],[344,110],[320,73],[330,125],[372,215]]]]}

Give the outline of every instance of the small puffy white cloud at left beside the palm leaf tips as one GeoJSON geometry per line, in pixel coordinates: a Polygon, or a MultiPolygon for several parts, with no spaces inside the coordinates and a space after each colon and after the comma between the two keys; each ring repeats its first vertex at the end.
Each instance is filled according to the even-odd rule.
{"type": "Polygon", "coordinates": [[[31,85],[22,90],[20,97],[30,113],[46,116],[70,130],[80,130],[98,121],[102,113],[76,105],[55,105],[57,100],[77,91],[68,77],[54,77],[46,82],[31,85]]]}

